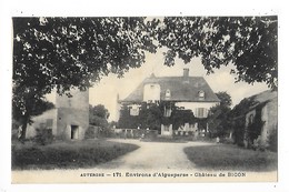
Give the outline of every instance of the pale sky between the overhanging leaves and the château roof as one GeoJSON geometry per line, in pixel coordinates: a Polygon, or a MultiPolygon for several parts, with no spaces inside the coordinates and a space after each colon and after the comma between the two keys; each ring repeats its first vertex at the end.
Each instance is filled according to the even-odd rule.
{"type": "Polygon", "coordinates": [[[238,104],[243,98],[268,90],[265,83],[248,84],[246,82],[235,83],[236,75],[230,74],[232,65],[215,70],[207,75],[200,58],[195,58],[185,64],[177,59],[173,67],[163,65],[162,50],[155,53],[146,53],[146,62],[138,69],[131,69],[119,79],[116,74],[109,74],[89,90],[89,102],[92,105],[103,104],[110,112],[109,121],[117,120],[117,95],[126,99],[146,78],[155,73],[156,77],[182,75],[183,68],[189,68],[191,77],[203,77],[213,92],[227,91],[231,95],[232,105],[238,104]]]}

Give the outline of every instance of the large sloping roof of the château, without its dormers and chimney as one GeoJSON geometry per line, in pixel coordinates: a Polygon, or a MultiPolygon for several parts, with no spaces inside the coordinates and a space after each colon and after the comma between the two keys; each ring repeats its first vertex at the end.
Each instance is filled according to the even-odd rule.
{"type": "Polygon", "coordinates": [[[219,102],[207,81],[202,77],[156,77],[144,79],[134,91],[132,91],[123,102],[143,101],[143,87],[147,83],[158,83],[160,85],[160,100],[165,100],[166,91],[169,89],[170,101],[187,102],[219,102]],[[199,91],[205,92],[205,99],[199,99],[199,91]]]}

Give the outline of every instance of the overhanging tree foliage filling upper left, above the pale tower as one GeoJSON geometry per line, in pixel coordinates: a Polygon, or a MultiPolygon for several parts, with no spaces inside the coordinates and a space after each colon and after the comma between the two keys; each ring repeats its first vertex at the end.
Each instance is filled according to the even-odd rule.
{"type": "MultiPolygon", "coordinates": [[[[86,90],[109,72],[121,77],[156,46],[144,18],[13,18],[13,114],[23,133],[32,108],[53,89],[86,90]]],[[[24,135],[23,135],[24,138],[24,135]]]]}

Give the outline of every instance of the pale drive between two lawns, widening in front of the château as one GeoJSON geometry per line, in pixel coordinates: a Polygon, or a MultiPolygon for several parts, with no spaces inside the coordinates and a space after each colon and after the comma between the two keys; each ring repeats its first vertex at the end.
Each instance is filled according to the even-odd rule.
{"type": "Polygon", "coordinates": [[[140,148],[119,159],[100,164],[99,169],[124,169],[124,170],[191,170],[195,164],[188,160],[183,148],[203,145],[203,142],[141,142],[138,140],[113,140],[127,142],[140,148]]]}

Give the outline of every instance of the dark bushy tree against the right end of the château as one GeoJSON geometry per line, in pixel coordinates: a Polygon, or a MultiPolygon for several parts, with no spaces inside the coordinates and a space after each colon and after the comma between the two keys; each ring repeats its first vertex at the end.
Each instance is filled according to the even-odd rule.
{"type": "Polygon", "coordinates": [[[231,97],[226,91],[216,93],[220,100],[220,104],[210,109],[208,117],[209,130],[213,135],[225,137],[231,129],[230,111],[231,97]]]}

